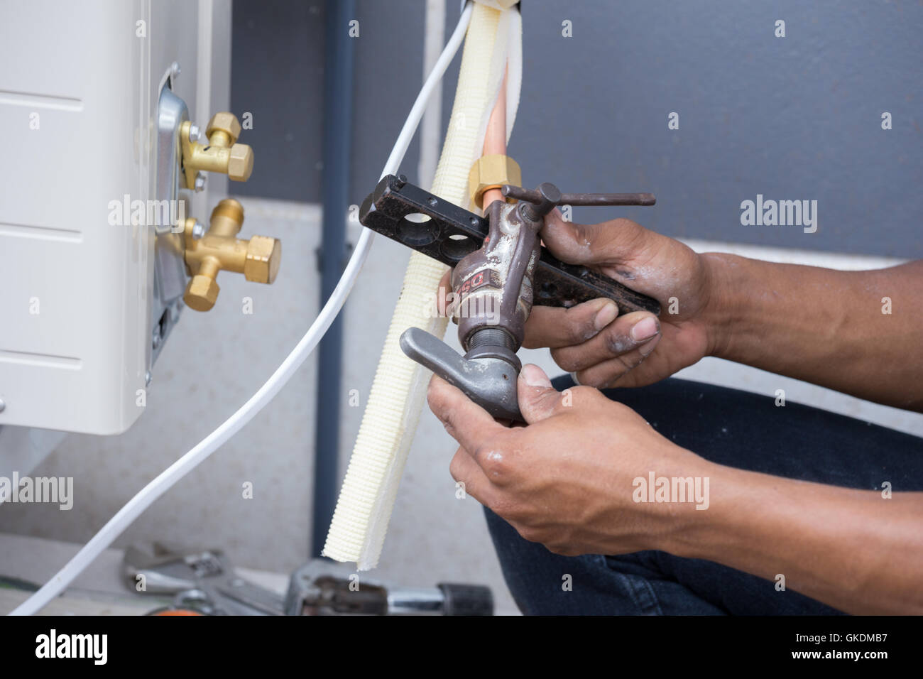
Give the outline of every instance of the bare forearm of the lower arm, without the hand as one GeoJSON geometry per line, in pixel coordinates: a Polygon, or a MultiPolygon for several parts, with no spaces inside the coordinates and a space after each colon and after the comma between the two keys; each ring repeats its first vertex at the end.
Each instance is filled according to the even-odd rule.
{"type": "MultiPolygon", "coordinates": [[[[705,511],[666,551],[777,580],[841,611],[923,613],[923,493],[856,491],[712,467],[705,511]]],[[[767,583],[766,587],[773,587],[767,583]]]]}

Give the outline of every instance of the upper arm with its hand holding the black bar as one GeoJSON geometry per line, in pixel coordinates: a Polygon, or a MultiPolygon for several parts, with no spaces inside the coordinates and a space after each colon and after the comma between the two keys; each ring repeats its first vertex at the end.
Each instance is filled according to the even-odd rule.
{"type": "Polygon", "coordinates": [[[545,217],[542,236],[558,259],[662,307],[659,319],[636,311],[615,320],[602,299],[534,308],[523,346],[551,347],[582,384],[641,386],[715,356],[923,409],[923,261],[842,272],[699,254],[629,220],[572,224],[557,212],[545,217]],[[639,335],[641,321],[653,334],[639,335]]]}

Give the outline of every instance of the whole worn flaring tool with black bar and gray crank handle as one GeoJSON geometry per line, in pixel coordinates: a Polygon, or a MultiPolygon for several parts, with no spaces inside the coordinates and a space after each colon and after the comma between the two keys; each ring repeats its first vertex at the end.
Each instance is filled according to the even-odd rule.
{"type": "Polygon", "coordinates": [[[608,297],[619,313],[660,313],[656,300],[583,266],[558,261],[539,239],[545,214],[558,205],[653,205],[650,193],[562,194],[504,185],[480,217],[407,182],[386,176],[363,202],[359,221],[378,233],[454,266],[453,319],[462,357],[419,328],[401,336],[410,358],[459,387],[496,418],[522,419],[516,395],[525,321],[533,304],[571,307],[608,297]]]}

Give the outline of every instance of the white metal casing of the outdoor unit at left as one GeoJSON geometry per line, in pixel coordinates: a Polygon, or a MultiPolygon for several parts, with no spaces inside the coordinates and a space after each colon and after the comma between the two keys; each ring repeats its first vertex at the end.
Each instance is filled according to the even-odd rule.
{"type": "Polygon", "coordinates": [[[0,4],[0,425],[114,434],[143,411],[153,240],[110,203],[150,198],[174,61],[197,113],[197,44],[188,2],[0,4]]]}

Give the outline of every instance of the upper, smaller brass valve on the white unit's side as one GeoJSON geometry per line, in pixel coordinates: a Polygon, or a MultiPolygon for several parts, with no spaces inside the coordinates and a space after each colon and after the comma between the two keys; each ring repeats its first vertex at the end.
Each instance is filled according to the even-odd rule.
{"type": "Polygon", "coordinates": [[[180,126],[180,140],[183,151],[183,172],[186,187],[196,184],[196,175],[200,170],[221,172],[234,181],[246,181],[253,172],[253,149],[246,144],[238,144],[240,122],[237,116],[227,112],[211,116],[209,126],[205,128],[208,144],[189,139],[190,121],[180,126]]]}

